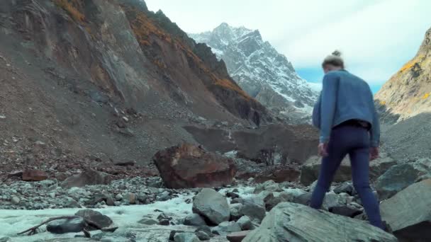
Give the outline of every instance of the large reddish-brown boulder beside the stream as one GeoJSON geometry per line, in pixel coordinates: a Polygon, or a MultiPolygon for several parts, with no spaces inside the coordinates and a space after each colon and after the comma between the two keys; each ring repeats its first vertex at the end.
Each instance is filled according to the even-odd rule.
{"type": "Polygon", "coordinates": [[[236,168],[232,159],[181,144],[157,152],[153,158],[168,188],[211,188],[232,183],[236,168]]]}

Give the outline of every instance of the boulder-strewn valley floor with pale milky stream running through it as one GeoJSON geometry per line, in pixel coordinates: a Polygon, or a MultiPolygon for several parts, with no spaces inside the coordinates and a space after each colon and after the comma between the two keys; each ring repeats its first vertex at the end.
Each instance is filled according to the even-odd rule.
{"type": "MultiPolygon", "coordinates": [[[[418,214],[426,214],[431,205],[430,159],[394,163],[384,156],[371,167],[376,176],[373,188],[381,200],[381,212],[388,231],[396,237],[364,221],[366,214],[349,180],[348,163],[343,163],[345,168],[337,173],[337,183],[325,197],[325,212],[304,206],[310,200],[319,169],[314,160],[310,158],[304,163],[300,176],[292,181],[262,183],[254,178],[233,178],[232,167],[224,164],[245,165],[234,154],[222,157],[196,146],[183,145],[155,156],[164,180],[157,176],[116,180],[108,173],[94,170],[62,181],[29,182],[14,177],[15,180],[9,179],[0,185],[0,226],[4,228],[0,241],[86,241],[89,238],[84,238],[85,234],[96,241],[271,241],[269,238],[286,241],[289,236],[299,236],[298,241],[315,241],[312,238],[341,241],[340,231],[350,231],[347,232],[349,241],[396,241],[396,237],[427,241],[428,230],[424,231],[421,224],[429,218],[418,214]],[[206,166],[190,166],[194,159],[202,159],[206,166]],[[186,173],[182,172],[184,169],[175,169],[187,165],[186,173]],[[166,172],[172,176],[166,176],[166,172]],[[199,180],[202,175],[220,186],[205,185],[199,180]],[[208,188],[193,188],[196,184],[208,188]],[[179,186],[184,188],[172,188],[179,186]],[[407,204],[411,213],[394,214],[396,209],[407,211],[407,204]],[[82,209],[96,212],[79,212],[82,209]],[[92,217],[82,215],[88,213],[92,217]],[[38,234],[30,237],[16,235],[58,216],[74,217],[43,225],[38,234]],[[102,221],[110,222],[103,226],[97,224],[102,221]],[[315,224],[306,221],[315,221],[315,224]],[[278,224],[275,227],[274,222],[278,224]],[[334,227],[342,229],[331,232],[334,227]],[[304,232],[298,235],[298,229],[304,232]]],[[[40,178],[38,173],[33,175],[40,178]]]]}

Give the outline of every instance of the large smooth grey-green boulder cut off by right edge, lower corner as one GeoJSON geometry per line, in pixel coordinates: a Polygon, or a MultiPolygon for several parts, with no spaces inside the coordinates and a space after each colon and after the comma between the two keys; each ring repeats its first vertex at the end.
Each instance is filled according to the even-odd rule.
{"type": "Polygon", "coordinates": [[[431,179],[422,180],[380,204],[381,216],[398,238],[431,241],[431,179]]]}

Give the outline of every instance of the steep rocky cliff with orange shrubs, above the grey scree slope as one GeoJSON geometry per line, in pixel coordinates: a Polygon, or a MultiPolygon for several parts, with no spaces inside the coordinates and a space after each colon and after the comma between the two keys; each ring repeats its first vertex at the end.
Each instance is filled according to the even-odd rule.
{"type": "Polygon", "coordinates": [[[208,47],[196,45],[143,1],[18,0],[1,7],[4,25],[30,49],[130,107],[139,109],[159,93],[198,115],[225,117],[228,110],[257,125],[267,120],[262,105],[237,86],[208,47]]]}

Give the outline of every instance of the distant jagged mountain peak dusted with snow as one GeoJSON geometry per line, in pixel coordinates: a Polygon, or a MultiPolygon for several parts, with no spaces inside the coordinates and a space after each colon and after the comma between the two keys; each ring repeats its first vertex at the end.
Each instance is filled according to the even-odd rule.
{"type": "Polygon", "coordinates": [[[317,94],[283,54],[262,40],[259,30],[222,23],[213,31],[189,35],[209,45],[230,76],[260,103],[288,117],[310,113],[317,94]]]}

